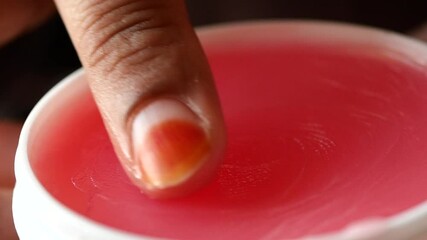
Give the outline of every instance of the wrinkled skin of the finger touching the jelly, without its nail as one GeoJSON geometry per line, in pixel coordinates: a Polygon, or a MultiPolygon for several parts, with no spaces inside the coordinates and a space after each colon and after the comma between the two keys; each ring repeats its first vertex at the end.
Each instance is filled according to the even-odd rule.
{"type": "Polygon", "coordinates": [[[183,0],[56,4],[116,153],[129,172],[136,164],[129,123],[136,109],[159,97],[187,104],[208,130],[212,145],[223,151],[225,127],[218,97],[183,0]]]}

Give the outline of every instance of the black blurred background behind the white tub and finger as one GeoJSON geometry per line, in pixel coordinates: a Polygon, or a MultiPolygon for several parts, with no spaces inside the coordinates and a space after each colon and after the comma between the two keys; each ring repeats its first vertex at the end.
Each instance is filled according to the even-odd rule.
{"type": "MultiPolygon", "coordinates": [[[[254,19],[320,19],[406,34],[427,22],[427,0],[186,2],[195,27],[254,19]]],[[[57,15],[0,48],[0,119],[24,119],[47,90],[79,67],[80,62],[57,15]]]]}

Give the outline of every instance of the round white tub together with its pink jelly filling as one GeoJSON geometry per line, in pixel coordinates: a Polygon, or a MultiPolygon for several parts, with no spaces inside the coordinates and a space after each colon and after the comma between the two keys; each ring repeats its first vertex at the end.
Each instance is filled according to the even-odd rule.
{"type": "Polygon", "coordinates": [[[199,36],[228,130],[214,181],[174,200],[141,194],[79,71],[24,126],[13,205],[21,239],[426,236],[426,45],[298,21],[199,36]]]}

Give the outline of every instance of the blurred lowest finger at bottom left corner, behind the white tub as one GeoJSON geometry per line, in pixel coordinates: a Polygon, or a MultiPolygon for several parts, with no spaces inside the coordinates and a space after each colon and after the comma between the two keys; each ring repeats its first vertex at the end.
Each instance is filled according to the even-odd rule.
{"type": "Polygon", "coordinates": [[[0,239],[19,239],[12,218],[12,189],[0,188],[0,239]]]}

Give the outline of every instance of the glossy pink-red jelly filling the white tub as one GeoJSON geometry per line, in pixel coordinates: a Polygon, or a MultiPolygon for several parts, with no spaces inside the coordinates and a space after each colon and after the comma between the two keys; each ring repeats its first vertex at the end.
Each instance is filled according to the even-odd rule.
{"type": "Polygon", "coordinates": [[[91,219],[180,239],[294,238],[427,199],[425,71],[327,46],[208,55],[229,134],[212,184],[182,199],[145,197],[88,92],[34,143],[37,177],[91,219]]]}

